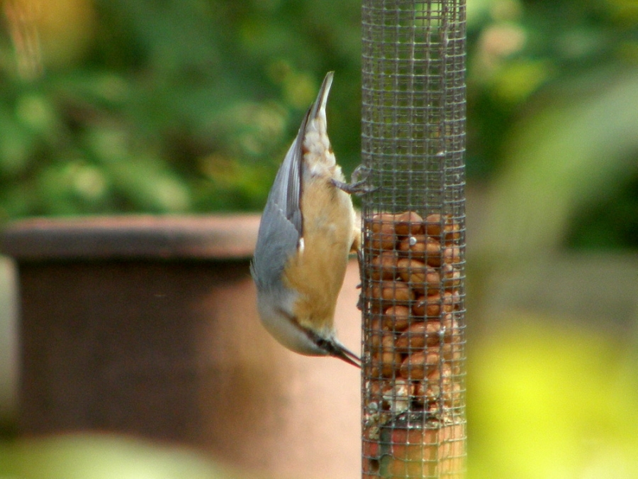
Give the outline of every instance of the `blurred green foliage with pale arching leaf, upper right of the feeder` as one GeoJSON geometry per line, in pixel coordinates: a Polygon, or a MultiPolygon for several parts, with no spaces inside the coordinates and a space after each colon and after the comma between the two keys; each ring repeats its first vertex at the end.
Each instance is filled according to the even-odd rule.
{"type": "Polygon", "coordinates": [[[636,248],[638,3],[468,4],[467,163],[490,182],[488,249],[636,248]]]}

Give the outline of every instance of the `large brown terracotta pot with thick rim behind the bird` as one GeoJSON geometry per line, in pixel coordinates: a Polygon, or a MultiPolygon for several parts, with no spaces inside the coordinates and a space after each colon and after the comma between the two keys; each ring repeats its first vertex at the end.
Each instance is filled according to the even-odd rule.
{"type": "MultiPolygon", "coordinates": [[[[360,474],[359,371],[259,324],[258,216],[29,219],[2,238],[21,297],[24,435],[113,431],[279,477],[360,474]]],[[[358,349],[357,265],[337,321],[358,349]]]]}

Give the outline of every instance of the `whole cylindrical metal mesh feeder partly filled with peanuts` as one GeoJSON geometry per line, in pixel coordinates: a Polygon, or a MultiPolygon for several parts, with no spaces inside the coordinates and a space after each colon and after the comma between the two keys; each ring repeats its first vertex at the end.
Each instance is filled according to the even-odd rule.
{"type": "Polygon", "coordinates": [[[364,0],[363,477],[461,478],[465,2],[364,0]]]}

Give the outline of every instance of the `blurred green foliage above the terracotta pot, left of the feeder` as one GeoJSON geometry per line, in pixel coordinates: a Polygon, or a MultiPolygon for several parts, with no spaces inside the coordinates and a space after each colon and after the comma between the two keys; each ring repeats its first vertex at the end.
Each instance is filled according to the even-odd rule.
{"type": "Polygon", "coordinates": [[[335,148],[357,163],[354,2],[50,4],[18,25],[37,29],[43,75],[1,45],[5,217],[260,209],[330,69],[335,148]]]}

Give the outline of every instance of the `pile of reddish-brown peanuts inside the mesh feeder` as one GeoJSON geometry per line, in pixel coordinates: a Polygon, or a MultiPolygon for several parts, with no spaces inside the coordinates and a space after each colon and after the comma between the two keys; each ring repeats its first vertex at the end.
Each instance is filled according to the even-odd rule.
{"type": "Polygon", "coordinates": [[[364,221],[364,241],[367,419],[425,412],[447,422],[461,400],[461,228],[440,214],[381,213],[364,221]]]}

